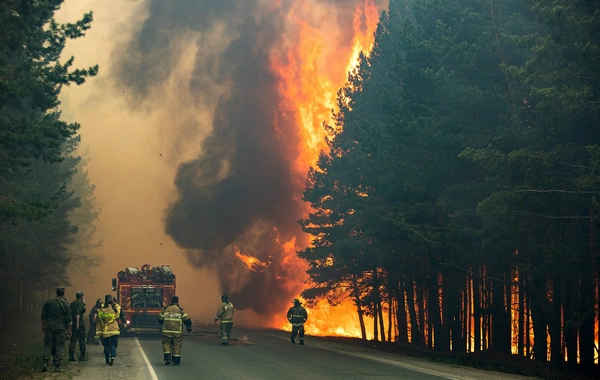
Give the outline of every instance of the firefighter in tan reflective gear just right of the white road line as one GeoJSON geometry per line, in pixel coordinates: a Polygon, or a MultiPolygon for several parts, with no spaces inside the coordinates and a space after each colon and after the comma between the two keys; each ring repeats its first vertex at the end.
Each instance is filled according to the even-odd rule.
{"type": "Polygon", "coordinates": [[[162,325],[161,332],[163,336],[163,355],[165,365],[181,363],[181,334],[183,325],[187,332],[192,332],[192,320],[187,313],[179,306],[179,297],[171,298],[171,305],[165,307],[158,314],[158,322],[162,325]],[[171,360],[172,359],[172,360],[171,360]]]}

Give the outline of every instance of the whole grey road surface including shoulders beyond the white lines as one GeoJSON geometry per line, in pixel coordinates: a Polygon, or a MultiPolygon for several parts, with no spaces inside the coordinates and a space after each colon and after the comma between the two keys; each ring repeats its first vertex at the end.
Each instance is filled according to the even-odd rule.
{"type": "MultiPolygon", "coordinates": [[[[157,332],[121,338],[113,367],[104,365],[101,346],[92,346],[90,360],[72,377],[128,380],[245,379],[403,379],[506,380],[516,375],[429,363],[384,354],[363,347],[306,337],[292,344],[289,333],[235,326],[228,346],[221,345],[217,326],[199,327],[183,337],[181,365],[164,365],[157,332]]],[[[296,339],[298,341],[298,339],[296,339]]],[[[77,366],[77,364],[75,364],[77,366]]]]}

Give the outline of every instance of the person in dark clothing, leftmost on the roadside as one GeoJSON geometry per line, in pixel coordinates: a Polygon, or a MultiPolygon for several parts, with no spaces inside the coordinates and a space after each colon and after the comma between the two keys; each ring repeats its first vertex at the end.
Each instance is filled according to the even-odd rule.
{"type": "Polygon", "coordinates": [[[56,288],[56,297],[50,298],[42,308],[42,332],[44,336],[44,365],[42,372],[48,371],[48,361],[53,356],[54,371],[63,372],[60,367],[65,340],[71,338],[71,310],[65,301],[65,288],[56,288]]]}

